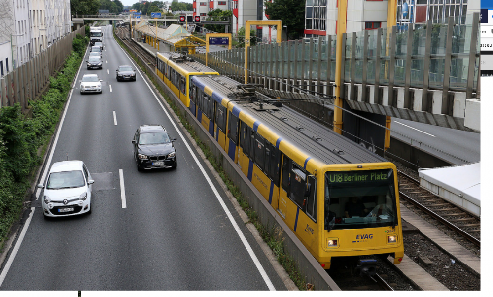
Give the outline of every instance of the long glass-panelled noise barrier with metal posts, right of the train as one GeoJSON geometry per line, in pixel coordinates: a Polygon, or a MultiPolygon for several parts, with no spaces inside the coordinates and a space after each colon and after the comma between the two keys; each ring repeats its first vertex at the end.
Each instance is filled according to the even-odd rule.
{"type": "MultiPolygon", "coordinates": [[[[444,96],[449,91],[465,92],[467,98],[476,96],[479,13],[450,17],[443,23],[410,24],[409,28],[398,32],[393,26],[343,34],[340,83],[350,84],[351,97],[357,94],[354,84],[362,84],[363,90],[368,84],[375,85],[375,98],[380,100],[379,86],[388,86],[389,94],[394,87],[405,88],[406,101],[410,88],[423,89],[423,106],[430,104],[425,98],[431,89],[443,90],[444,96]]],[[[331,95],[332,89],[325,86],[335,82],[336,38],[332,35],[251,46],[248,82],[279,91],[298,93],[299,89],[293,90],[298,87],[314,95],[331,95]]],[[[205,54],[193,56],[205,62],[205,54]]],[[[245,81],[245,49],[209,53],[208,62],[221,74],[245,81]]],[[[344,96],[342,93],[341,98],[344,96]]],[[[450,108],[449,104],[444,108],[450,108]]]]}

